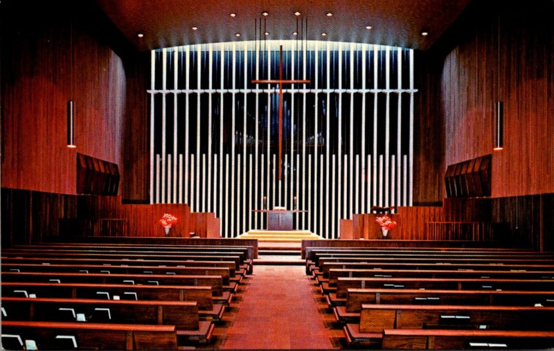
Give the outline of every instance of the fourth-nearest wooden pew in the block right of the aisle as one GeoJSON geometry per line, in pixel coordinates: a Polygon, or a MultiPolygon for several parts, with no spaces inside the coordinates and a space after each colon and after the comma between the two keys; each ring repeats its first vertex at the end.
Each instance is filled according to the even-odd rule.
{"type": "MultiPolygon", "coordinates": [[[[445,290],[553,290],[554,279],[490,278],[348,278],[337,279],[337,297],[346,298],[350,288],[404,288],[445,290]]],[[[325,292],[325,291],[324,291],[325,292]]]]}

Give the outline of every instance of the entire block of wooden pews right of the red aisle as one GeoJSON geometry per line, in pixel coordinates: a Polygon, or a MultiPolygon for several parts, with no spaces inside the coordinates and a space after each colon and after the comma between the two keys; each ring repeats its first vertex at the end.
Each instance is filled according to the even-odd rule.
{"type": "Polygon", "coordinates": [[[306,248],[348,348],[554,348],[554,255],[522,249],[306,248]]]}

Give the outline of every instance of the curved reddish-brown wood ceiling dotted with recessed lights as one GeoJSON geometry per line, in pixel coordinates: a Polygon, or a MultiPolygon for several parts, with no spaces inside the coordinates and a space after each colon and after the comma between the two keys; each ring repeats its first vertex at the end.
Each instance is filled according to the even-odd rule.
{"type": "Polygon", "coordinates": [[[96,0],[139,51],[259,39],[324,39],[426,50],[472,0],[96,0]],[[294,12],[299,11],[298,17],[294,12]],[[236,17],[231,17],[231,12],[236,17]],[[332,12],[333,16],[326,14],[332,12]],[[258,30],[256,20],[258,19],[258,30]],[[304,26],[302,26],[304,24],[304,26]],[[307,24],[307,29],[305,28],[307,24]],[[193,30],[196,26],[198,29],[193,30]],[[366,29],[372,26],[372,29],[366,29]],[[304,31],[302,31],[304,29],[304,31]],[[422,31],[429,35],[422,36],[422,31]],[[143,33],[139,38],[137,34],[143,33]],[[240,33],[240,37],[235,37],[240,33]],[[328,33],[322,37],[321,33],[328,33]]]}

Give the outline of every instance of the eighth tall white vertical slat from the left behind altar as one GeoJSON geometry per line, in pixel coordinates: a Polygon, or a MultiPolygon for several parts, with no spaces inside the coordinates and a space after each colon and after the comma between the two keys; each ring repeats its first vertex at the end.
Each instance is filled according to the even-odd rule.
{"type": "Polygon", "coordinates": [[[231,79],[233,82],[231,83],[231,136],[229,140],[231,140],[231,202],[229,202],[229,197],[226,197],[227,204],[226,207],[231,208],[231,231],[229,231],[227,234],[230,235],[230,237],[234,237],[236,233],[235,229],[235,172],[237,171],[235,167],[235,142],[236,142],[236,133],[235,133],[235,125],[236,125],[236,82],[237,82],[237,43],[233,42],[231,51],[231,67],[232,67],[232,73],[231,73],[231,79]]]}

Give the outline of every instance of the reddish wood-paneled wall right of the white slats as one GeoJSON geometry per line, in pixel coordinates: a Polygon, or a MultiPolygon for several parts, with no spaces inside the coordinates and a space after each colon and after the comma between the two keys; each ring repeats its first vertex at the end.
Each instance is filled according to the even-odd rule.
{"type": "Polygon", "coordinates": [[[474,1],[422,55],[430,78],[421,118],[441,115],[443,167],[492,152],[494,102],[503,101],[504,149],[493,152],[492,197],[554,191],[553,17],[549,0],[474,1]]]}

